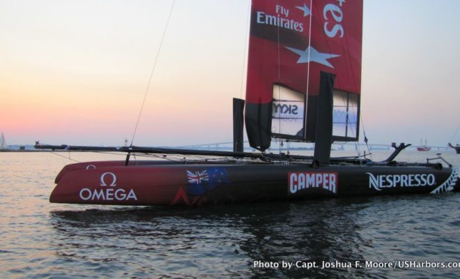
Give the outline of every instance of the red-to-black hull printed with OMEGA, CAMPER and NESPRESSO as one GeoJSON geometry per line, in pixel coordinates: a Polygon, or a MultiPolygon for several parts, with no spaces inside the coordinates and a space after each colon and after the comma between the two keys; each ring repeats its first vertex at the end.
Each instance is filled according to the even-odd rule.
{"type": "Polygon", "coordinates": [[[76,165],[81,167],[74,165],[61,174],[51,202],[196,206],[460,190],[457,169],[450,167],[164,161],[136,166],[76,165]]]}

